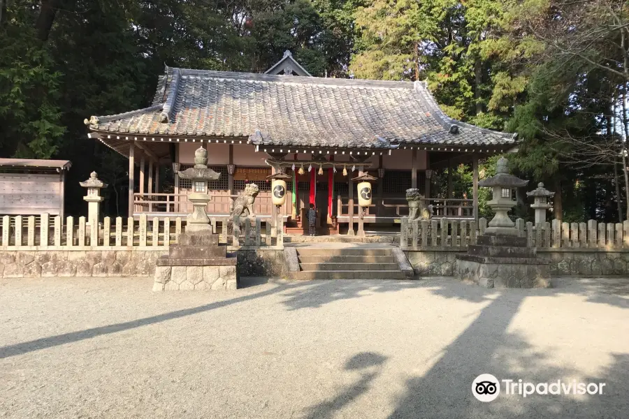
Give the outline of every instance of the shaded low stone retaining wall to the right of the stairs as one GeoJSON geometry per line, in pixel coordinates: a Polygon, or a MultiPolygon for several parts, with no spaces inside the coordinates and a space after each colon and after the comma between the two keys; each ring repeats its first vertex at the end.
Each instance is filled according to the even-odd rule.
{"type": "MultiPolygon", "coordinates": [[[[454,275],[454,255],[464,247],[405,250],[415,274],[421,277],[454,275]]],[[[537,256],[549,261],[553,277],[629,275],[629,249],[538,249],[537,256]]]]}

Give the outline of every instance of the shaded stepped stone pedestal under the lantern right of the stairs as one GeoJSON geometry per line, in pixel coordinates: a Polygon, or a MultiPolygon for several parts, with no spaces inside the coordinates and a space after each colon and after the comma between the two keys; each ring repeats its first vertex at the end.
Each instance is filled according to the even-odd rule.
{"type": "Polygon", "coordinates": [[[547,260],[537,258],[535,248],[526,247],[526,237],[482,235],[470,244],[468,253],[456,255],[454,275],[487,288],[547,288],[547,260]]]}

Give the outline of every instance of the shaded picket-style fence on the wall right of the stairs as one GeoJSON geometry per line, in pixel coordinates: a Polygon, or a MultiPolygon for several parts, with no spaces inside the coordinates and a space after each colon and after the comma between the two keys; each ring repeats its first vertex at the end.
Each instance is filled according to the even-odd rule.
{"type": "MultiPolygon", "coordinates": [[[[487,220],[474,221],[458,219],[401,220],[400,247],[420,249],[424,247],[466,247],[476,244],[477,237],[484,234],[487,220]]],[[[526,237],[529,247],[542,249],[591,248],[629,249],[629,221],[623,223],[541,223],[533,226],[523,219],[516,220],[519,237],[526,237]]]]}

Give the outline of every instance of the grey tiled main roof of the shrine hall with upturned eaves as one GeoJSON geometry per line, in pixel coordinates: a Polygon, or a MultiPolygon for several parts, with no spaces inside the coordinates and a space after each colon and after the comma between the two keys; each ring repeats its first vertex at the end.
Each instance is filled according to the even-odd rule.
{"type": "Polygon", "coordinates": [[[150,108],[92,117],[94,131],[247,137],[256,145],[394,148],[511,145],[516,136],[447,117],[424,82],[166,68],[150,108]]]}

